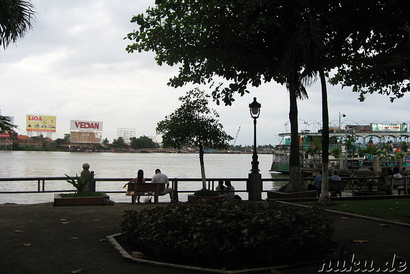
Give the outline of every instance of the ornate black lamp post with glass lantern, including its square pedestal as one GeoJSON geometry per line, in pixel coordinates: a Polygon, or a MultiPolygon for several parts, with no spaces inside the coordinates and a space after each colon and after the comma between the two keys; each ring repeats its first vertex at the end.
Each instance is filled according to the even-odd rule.
{"type": "Polygon", "coordinates": [[[260,114],[260,104],[256,102],[254,97],[253,102],[249,104],[251,117],[253,118],[254,136],[253,136],[253,155],[252,155],[252,169],[249,173],[249,180],[247,182],[247,190],[249,192],[250,201],[262,200],[262,175],[259,173],[258,153],[256,151],[256,119],[260,114]]]}

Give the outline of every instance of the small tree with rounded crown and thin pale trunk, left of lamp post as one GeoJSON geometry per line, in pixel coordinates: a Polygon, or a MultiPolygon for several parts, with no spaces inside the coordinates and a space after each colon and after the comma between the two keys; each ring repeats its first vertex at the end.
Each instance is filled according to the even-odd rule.
{"type": "Polygon", "coordinates": [[[179,97],[182,105],[173,113],[158,122],[156,132],[162,134],[165,147],[181,148],[185,144],[199,147],[199,164],[201,166],[202,188],[206,188],[203,150],[229,148],[228,142],[233,138],[223,131],[217,118],[219,114],[208,108],[210,95],[198,88],[179,97]]]}

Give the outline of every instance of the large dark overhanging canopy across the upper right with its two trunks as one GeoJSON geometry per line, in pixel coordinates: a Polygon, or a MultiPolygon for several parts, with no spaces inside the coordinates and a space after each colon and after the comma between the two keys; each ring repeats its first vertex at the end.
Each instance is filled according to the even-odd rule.
{"type": "MultiPolygon", "coordinates": [[[[179,65],[170,86],[209,84],[217,103],[222,99],[231,105],[236,93],[249,92],[249,85],[271,81],[286,85],[291,182],[300,177],[296,102],[307,97],[305,86],[318,75],[324,150],[329,147],[326,76],[333,69],[338,71],[332,84],[353,86],[361,94],[377,91],[401,97],[410,88],[407,3],[157,0],[155,4],[146,14],[132,17],[139,28],[127,35],[134,43],[126,50],[153,51],[158,65],[179,65]]],[[[323,157],[326,164],[327,153],[323,157]]]]}

